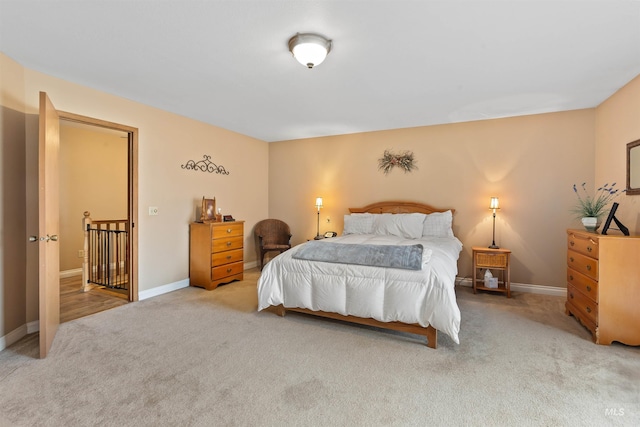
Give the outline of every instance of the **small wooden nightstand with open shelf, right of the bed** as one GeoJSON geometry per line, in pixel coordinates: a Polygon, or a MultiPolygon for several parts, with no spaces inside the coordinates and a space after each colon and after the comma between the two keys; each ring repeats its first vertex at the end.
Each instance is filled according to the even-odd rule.
{"type": "Polygon", "coordinates": [[[506,293],[511,298],[511,251],[474,246],[473,251],[473,293],[482,291],[506,293]],[[498,279],[498,287],[490,288],[484,282],[484,273],[489,269],[498,279]]]}

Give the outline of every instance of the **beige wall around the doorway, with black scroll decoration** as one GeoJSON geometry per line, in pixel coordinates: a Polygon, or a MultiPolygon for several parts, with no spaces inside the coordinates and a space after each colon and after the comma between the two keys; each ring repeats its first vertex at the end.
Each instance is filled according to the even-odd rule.
{"type": "MultiPolygon", "coordinates": [[[[25,70],[27,113],[36,113],[38,92],[47,92],[59,110],[120,123],[139,130],[139,290],[184,280],[189,274],[189,222],[202,196],[247,228],[267,216],[268,144],[176,114],[25,70]],[[188,160],[203,155],[229,175],[188,171],[188,160]],[[157,206],[158,216],[148,207],[157,206]]],[[[255,260],[245,233],[247,261],[255,260]]]]}

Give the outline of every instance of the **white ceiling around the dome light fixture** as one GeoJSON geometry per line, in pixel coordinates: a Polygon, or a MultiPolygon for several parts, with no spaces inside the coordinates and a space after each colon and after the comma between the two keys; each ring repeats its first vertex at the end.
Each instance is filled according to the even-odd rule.
{"type": "Polygon", "coordinates": [[[640,74],[640,1],[0,0],[0,50],[279,141],[595,107],[640,74]]]}

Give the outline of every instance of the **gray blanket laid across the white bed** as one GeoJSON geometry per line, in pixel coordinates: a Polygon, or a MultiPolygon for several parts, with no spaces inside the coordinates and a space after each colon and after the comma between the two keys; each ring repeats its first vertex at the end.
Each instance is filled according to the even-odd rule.
{"type": "Polygon", "coordinates": [[[422,269],[422,245],[358,245],[351,243],[307,242],[293,258],[375,267],[422,269]]]}

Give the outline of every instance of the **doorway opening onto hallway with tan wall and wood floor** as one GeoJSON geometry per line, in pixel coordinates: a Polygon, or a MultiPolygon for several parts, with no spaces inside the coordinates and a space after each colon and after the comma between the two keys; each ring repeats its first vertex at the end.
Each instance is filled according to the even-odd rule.
{"type": "Polygon", "coordinates": [[[137,129],[59,114],[60,321],[65,322],[138,299],[137,129]],[[82,267],[92,250],[84,242],[87,218],[126,224],[126,260],[118,263],[119,269],[125,267],[126,283],[109,286],[83,277],[82,267]]]}

